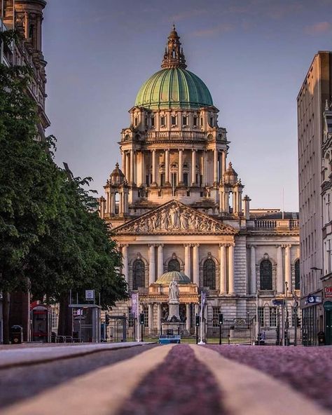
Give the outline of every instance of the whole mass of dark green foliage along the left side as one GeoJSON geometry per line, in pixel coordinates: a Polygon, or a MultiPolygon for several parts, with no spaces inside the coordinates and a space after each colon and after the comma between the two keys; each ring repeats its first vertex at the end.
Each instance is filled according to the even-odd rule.
{"type": "Polygon", "coordinates": [[[55,140],[36,140],[29,69],[0,65],[0,290],[59,301],[95,289],[104,308],[127,297],[120,254],[96,200],[53,161],[55,140]]]}

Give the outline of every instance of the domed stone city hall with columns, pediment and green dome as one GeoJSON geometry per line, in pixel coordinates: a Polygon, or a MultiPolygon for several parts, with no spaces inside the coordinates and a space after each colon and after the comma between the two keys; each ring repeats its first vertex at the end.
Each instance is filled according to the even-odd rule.
{"type": "MultiPolygon", "coordinates": [[[[160,334],[173,279],[186,334],[195,330],[202,291],[208,332],[219,313],[230,325],[252,320],[256,296],[261,327],[275,329],[275,300],[287,296],[291,315],[299,295],[298,214],[251,209],[219,110],[186,69],[179,39],[173,27],[161,69],[137,93],[100,216],[123,255],[130,293],[139,293],[146,333],[160,334]]],[[[110,314],[128,316],[131,306],[120,302],[110,314]]]]}

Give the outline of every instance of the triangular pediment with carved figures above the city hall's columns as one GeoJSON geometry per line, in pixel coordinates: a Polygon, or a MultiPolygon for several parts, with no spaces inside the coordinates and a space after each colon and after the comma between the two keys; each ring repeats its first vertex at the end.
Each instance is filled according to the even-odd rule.
{"type": "Polygon", "coordinates": [[[184,205],[178,200],[156,207],[150,212],[113,229],[116,235],[127,234],[197,234],[234,235],[237,230],[184,205]]]}

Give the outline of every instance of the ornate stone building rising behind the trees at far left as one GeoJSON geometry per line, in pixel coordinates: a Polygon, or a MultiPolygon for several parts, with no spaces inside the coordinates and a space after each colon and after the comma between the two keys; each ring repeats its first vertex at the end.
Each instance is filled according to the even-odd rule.
{"type": "MultiPolygon", "coordinates": [[[[27,92],[37,104],[39,114],[37,140],[43,140],[45,130],[50,125],[45,111],[46,61],[42,52],[42,22],[45,6],[46,1],[44,0],[6,0],[0,2],[0,30],[15,29],[20,34],[20,39],[12,42],[11,45],[0,45],[0,62],[8,67],[22,65],[32,69],[32,81],[27,92]],[[4,5],[4,10],[2,10],[1,4],[4,5]]],[[[1,301],[2,299],[0,299],[0,310],[2,311],[1,301]]],[[[29,294],[11,294],[10,325],[22,325],[25,340],[29,339],[30,332],[29,305],[29,294]]]]}

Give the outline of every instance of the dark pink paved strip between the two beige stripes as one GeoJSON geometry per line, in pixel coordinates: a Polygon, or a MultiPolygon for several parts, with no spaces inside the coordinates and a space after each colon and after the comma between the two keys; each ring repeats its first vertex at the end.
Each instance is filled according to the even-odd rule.
{"type": "Polygon", "coordinates": [[[181,344],[141,382],[119,415],[226,414],[219,402],[214,376],[181,344]]]}

